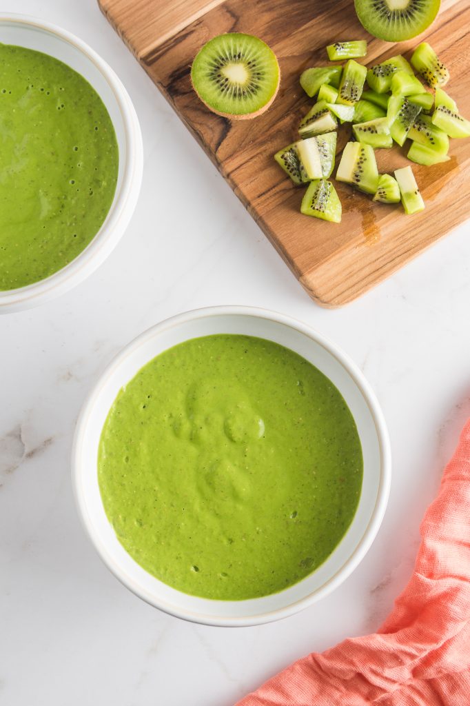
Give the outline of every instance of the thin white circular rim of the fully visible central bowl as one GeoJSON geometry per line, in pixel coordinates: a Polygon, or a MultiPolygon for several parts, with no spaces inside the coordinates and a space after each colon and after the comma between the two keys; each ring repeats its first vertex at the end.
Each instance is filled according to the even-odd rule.
{"type": "MultiPolygon", "coordinates": [[[[271,311],[269,309],[263,309],[256,306],[209,306],[200,309],[193,309],[191,311],[186,311],[183,313],[176,314],[176,316],[171,316],[164,321],[161,321],[143,333],[140,333],[131,342],[129,342],[121,351],[110,361],[106,366],[104,371],[100,374],[95,385],[93,385],[92,390],[88,393],[88,396],[83,402],[83,407],[80,409],[80,414],[76,422],[76,429],[73,436],[73,445],[71,451],[71,474],[72,474],[72,486],[73,495],[76,501],[76,507],[78,510],[78,515],[80,517],[83,528],[85,529],[88,538],[92,542],[95,550],[100,556],[101,560],[111,571],[111,573],[126,587],[131,590],[140,599],[143,599],[146,603],[164,611],[167,614],[175,616],[176,618],[182,618],[186,621],[193,623],[200,623],[208,626],[221,626],[221,627],[244,627],[244,626],[255,626],[263,623],[269,623],[272,621],[277,621],[281,618],[287,618],[304,608],[312,605],[321,598],[330,594],[335,588],[337,588],[344,580],[346,580],[349,575],[356,569],[359,563],[361,563],[364,556],[366,556],[370,546],[378,533],[379,527],[382,523],[383,517],[385,515],[385,509],[387,507],[387,501],[390,494],[390,482],[391,482],[391,450],[390,450],[390,438],[387,430],[387,425],[385,423],[385,417],[383,416],[382,410],[378,403],[375,393],[370,387],[368,381],[363,376],[363,373],[358,369],[358,366],[354,361],[345,354],[342,349],[340,349],[335,343],[333,343],[329,338],[325,337],[323,334],[318,333],[317,330],[311,328],[306,323],[299,321],[298,319],[289,316],[287,314],[279,313],[277,311],[271,311]],[[380,479],[378,485],[378,493],[375,501],[375,507],[373,513],[370,516],[367,527],[363,530],[363,535],[358,542],[356,549],[349,555],[349,557],[344,561],[343,565],[335,575],[333,575],[329,580],[327,580],[322,586],[317,590],[313,591],[308,596],[303,597],[297,601],[294,601],[287,606],[283,606],[278,609],[264,611],[263,613],[251,615],[251,616],[212,616],[207,614],[202,614],[199,612],[191,611],[189,609],[182,609],[181,606],[174,606],[174,604],[168,604],[164,600],[158,599],[158,597],[152,597],[150,599],[149,595],[140,589],[138,583],[135,580],[129,580],[128,575],[121,570],[121,568],[114,562],[114,560],[108,555],[106,549],[102,542],[100,542],[97,533],[95,533],[92,522],[88,515],[88,509],[81,490],[82,478],[81,478],[81,464],[80,464],[80,451],[83,444],[83,438],[85,436],[86,427],[88,424],[88,418],[92,409],[95,407],[98,397],[102,391],[104,385],[107,384],[109,378],[114,374],[116,369],[118,369],[124,360],[126,360],[131,354],[133,354],[135,349],[138,349],[140,345],[143,345],[147,339],[159,335],[163,331],[169,330],[181,324],[188,323],[188,321],[194,321],[198,318],[206,318],[209,316],[254,316],[258,318],[265,318],[275,323],[279,323],[287,326],[288,328],[294,328],[294,330],[303,333],[307,337],[311,338],[313,341],[318,343],[323,347],[329,354],[331,354],[337,361],[342,364],[344,369],[347,371],[349,376],[351,376],[354,383],[357,385],[358,390],[366,402],[370,410],[371,417],[375,426],[375,431],[378,438],[378,447],[380,450],[380,479]]],[[[215,603],[223,603],[219,601],[214,601],[215,603]]],[[[243,604],[243,601],[240,602],[243,604]]]]}

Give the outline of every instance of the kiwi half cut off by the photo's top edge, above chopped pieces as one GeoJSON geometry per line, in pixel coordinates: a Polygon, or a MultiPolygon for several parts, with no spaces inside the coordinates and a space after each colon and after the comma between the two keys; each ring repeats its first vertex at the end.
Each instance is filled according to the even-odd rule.
{"type": "Polygon", "coordinates": [[[440,0],[354,0],[364,28],[386,42],[421,34],[438,14],[440,0]]]}

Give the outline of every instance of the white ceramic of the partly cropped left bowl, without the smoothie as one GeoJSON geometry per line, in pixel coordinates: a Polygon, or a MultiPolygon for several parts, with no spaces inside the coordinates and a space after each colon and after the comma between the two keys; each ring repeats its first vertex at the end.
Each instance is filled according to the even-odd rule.
{"type": "Polygon", "coordinates": [[[42,20],[0,13],[0,42],[54,56],[81,73],[100,95],[111,116],[119,146],[116,193],[99,232],[75,260],[45,280],[0,292],[0,313],[30,309],[58,297],[88,277],[107,258],[125,231],[137,203],[143,145],[131,99],[110,66],[70,32],[42,20]]]}

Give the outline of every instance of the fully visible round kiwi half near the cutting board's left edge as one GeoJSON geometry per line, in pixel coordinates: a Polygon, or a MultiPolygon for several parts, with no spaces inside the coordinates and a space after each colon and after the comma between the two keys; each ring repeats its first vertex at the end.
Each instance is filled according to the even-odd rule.
{"type": "Polygon", "coordinates": [[[207,42],[195,56],[191,82],[200,100],[217,115],[254,118],[275,99],[279,64],[258,37],[229,33],[207,42]]]}

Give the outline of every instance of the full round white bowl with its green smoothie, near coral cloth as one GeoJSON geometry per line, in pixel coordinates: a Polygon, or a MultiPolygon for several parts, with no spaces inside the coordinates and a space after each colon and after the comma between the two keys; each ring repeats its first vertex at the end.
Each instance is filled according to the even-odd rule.
{"type": "Polygon", "coordinates": [[[116,578],[218,626],[277,620],[334,590],[390,486],[387,429],[356,366],[251,307],[184,313],[123,349],[80,413],[72,464],[116,578]]]}

